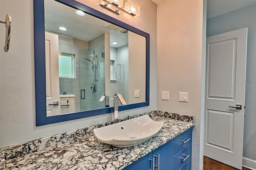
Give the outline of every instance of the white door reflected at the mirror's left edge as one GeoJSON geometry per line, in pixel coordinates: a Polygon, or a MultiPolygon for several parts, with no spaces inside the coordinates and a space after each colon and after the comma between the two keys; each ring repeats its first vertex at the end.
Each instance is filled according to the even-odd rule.
{"type": "Polygon", "coordinates": [[[46,115],[60,115],[58,35],[45,32],[46,115]],[[58,103],[57,103],[58,102],[58,103]]]}

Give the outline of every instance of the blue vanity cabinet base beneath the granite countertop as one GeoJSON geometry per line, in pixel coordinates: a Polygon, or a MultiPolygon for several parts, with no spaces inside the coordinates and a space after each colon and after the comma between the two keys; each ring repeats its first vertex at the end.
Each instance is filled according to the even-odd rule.
{"type": "Polygon", "coordinates": [[[192,128],[133,162],[124,170],[191,170],[192,128]],[[159,161],[159,162],[158,162],[159,161]]]}

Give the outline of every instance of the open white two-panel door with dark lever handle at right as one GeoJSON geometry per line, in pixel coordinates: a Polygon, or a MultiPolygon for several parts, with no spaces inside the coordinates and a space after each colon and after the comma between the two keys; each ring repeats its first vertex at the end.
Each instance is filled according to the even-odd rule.
{"type": "Polygon", "coordinates": [[[204,156],[242,169],[247,28],[206,39],[204,156]],[[230,108],[242,105],[241,110],[230,108]],[[230,106],[230,107],[229,107],[230,106]]]}

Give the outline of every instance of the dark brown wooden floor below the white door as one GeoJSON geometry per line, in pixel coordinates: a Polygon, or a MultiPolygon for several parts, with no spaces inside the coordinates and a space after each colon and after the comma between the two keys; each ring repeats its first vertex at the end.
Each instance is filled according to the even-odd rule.
{"type": "MultiPolygon", "coordinates": [[[[204,170],[237,170],[237,169],[204,156],[204,170]]],[[[250,169],[243,167],[242,170],[250,170],[250,169]]]]}

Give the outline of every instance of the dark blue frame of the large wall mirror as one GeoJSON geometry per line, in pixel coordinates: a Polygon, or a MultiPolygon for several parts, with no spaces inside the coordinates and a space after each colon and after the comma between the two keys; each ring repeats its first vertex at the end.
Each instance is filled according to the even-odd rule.
{"type": "MultiPolygon", "coordinates": [[[[144,36],[146,38],[146,102],[119,106],[119,111],[134,109],[138,107],[149,106],[149,60],[150,44],[149,34],[133,26],[112,18],[102,12],[94,10],[75,0],[56,0],[72,8],[80,9],[87,14],[125,28],[131,32],[144,36]]],[[[36,126],[48,125],[63,121],[70,121],[85,117],[102,115],[114,112],[113,107],[96,109],[90,111],[81,111],[65,115],[56,115],[46,117],[46,70],[45,70],[45,37],[44,37],[44,0],[34,0],[34,54],[35,54],[35,87],[36,87],[36,126]]]]}

